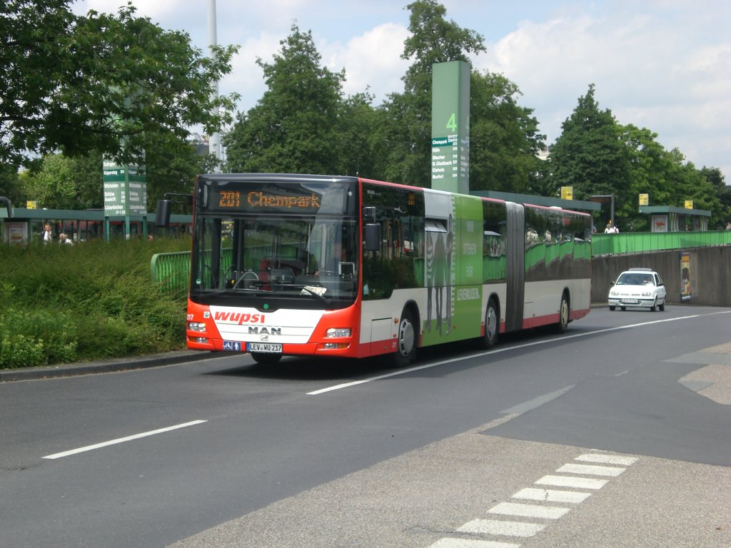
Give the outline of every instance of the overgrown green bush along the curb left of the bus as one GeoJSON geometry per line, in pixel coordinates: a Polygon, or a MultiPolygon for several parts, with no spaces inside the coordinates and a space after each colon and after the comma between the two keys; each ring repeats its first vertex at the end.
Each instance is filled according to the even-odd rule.
{"type": "Polygon", "coordinates": [[[184,348],[185,295],[150,278],[190,240],[0,244],[0,368],[184,348]]]}

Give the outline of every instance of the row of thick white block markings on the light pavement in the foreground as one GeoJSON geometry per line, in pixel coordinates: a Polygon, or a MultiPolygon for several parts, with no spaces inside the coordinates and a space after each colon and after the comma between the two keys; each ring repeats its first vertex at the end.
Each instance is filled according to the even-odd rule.
{"type": "MultiPolygon", "coordinates": [[[[604,487],[608,479],[587,478],[583,476],[617,477],[626,470],[626,466],[637,462],[637,457],[621,454],[585,453],[558,468],[555,474],[543,476],[536,485],[551,487],[568,487],[572,490],[539,489],[526,487],[512,495],[512,498],[531,503],[501,502],[488,509],[488,514],[498,514],[531,520],[543,520],[533,523],[511,520],[471,520],[455,530],[454,536],[501,536],[526,538],[535,536],[547,526],[546,520],[558,520],[572,508],[586,501],[591,491],[604,487]],[[591,463],[591,464],[581,464],[591,463]],[[572,476],[557,474],[575,474],[572,476]],[[583,490],[574,491],[573,489],[583,490]],[[586,492],[588,491],[588,492],[586,492]],[[532,502],[535,501],[536,503],[532,502]],[[567,503],[573,506],[549,506],[538,503],[567,503]]],[[[512,542],[492,541],[490,539],[448,538],[439,539],[430,548],[519,548],[520,544],[512,542]]]]}

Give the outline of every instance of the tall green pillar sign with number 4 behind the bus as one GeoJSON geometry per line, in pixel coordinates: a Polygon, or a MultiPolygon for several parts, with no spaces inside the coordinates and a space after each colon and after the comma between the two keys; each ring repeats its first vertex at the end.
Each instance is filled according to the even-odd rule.
{"type": "Polygon", "coordinates": [[[433,65],[432,189],[469,194],[469,75],[465,61],[433,65]]]}

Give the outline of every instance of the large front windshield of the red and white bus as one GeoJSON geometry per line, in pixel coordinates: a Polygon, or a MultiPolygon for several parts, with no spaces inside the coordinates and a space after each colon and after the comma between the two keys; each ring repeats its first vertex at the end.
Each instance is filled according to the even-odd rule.
{"type": "Polygon", "coordinates": [[[330,190],[308,185],[308,200],[317,207],[272,206],[272,211],[270,197],[299,196],[301,186],[229,188],[230,207],[221,207],[223,198],[216,197],[194,222],[191,300],[268,309],[294,302],[298,308],[333,309],[355,302],[358,221],[354,207],[339,207],[348,201],[335,196],[343,186],[330,190]]]}

